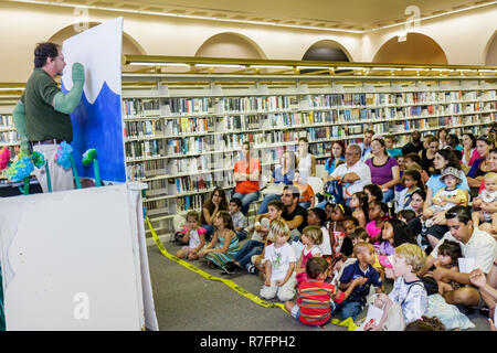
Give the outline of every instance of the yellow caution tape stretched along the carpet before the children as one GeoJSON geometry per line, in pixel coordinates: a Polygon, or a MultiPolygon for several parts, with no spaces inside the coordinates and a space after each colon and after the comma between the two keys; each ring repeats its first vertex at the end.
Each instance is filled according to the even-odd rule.
{"type": "MultiPolygon", "coordinates": [[[[269,302],[269,301],[262,300],[257,296],[254,296],[253,293],[246,291],[245,289],[243,289],[242,287],[240,287],[239,285],[233,282],[232,280],[212,276],[212,275],[201,270],[200,268],[193,266],[192,264],[187,263],[187,261],[180,259],[179,257],[169,254],[168,250],[166,250],[166,247],[163,246],[163,244],[159,240],[159,237],[157,236],[156,231],[152,228],[152,226],[150,224],[150,220],[148,217],[146,217],[145,220],[147,221],[147,224],[148,224],[148,227],[150,229],[150,233],[151,233],[151,236],[154,238],[154,242],[156,243],[156,245],[159,248],[160,253],[162,253],[162,255],[166,256],[167,258],[169,258],[170,260],[173,260],[175,263],[177,263],[177,264],[188,268],[189,270],[199,274],[203,278],[207,278],[209,280],[215,280],[215,281],[223,282],[224,285],[226,285],[228,287],[230,287],[234,291],[239,292],[243,297],[252,300],[253,302],[255,302],[255,303],[257,303],[257,304],[260,304],[260,306],[262,306],[264,308],[281,308],[285,312],[288,312],[285,309],[285,306],[279,303],[279,302],[269,302]]],[[[341,327],[347,327],[349,331],[353,331],[357,328],[357,325],[353,323],[353,320],[351,318],[349,318],[347,320],[343,320],[343,321],[339,321],[338,319],[331,319],[331,323],[337,324],[337,325],[341,325],[341,327]]]]}

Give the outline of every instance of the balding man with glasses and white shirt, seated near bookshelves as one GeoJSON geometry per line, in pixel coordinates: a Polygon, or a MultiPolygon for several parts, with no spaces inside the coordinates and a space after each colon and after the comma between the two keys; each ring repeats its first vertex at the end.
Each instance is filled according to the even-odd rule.
{"type": "Polygon", "coordinates": [[[331,173],[331,178],[341,180],[347,204],[355,192],[362,191],[371,183],[371,170],[360,159],[361,148],[358,145],[349,145],[346,150],[346,162],[338,165],[331,173]]]}

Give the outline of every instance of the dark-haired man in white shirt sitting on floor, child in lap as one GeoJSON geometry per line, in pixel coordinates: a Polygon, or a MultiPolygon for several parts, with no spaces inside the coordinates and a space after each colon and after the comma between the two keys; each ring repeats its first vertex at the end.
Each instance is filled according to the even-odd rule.
{"type": "MultiPolygon", "coordinates": [[[[474,268],[480,268],[488,274],[497,256],[497,243],[487,232],[473,227],[472,215],[464,206],[454,206],[445,213],[447,232],[426,257],[426,265],[419,275],[424,275],[435,263],[438,247],[445,240],[461,245],[464,258],[474,260],[474,268]]],[[[477,306],[480,299],[478,289],[469,286],[469,274],[462,274],[444,267],[435,267],[433,278],[444,282],[456,281],[465,287],[444,292],[445,301],[450,304],[477,306]]]]}

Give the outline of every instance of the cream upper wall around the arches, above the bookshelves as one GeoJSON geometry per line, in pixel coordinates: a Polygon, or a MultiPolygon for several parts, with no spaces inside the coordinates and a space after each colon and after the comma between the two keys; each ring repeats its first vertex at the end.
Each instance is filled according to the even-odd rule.
{"type": "MultiPolygon", "coordinates": [[[[266,58],[302,60],[321,40],[336,41],[351,58],[370,62],[399,28],[367,34],[332,33],[241,23],[89,11],[88,21],[104,22],[124,15],[124,31],[149,55],[194,56],[211,36],[234,32],[256,43],[266,58]]],[[[497,29],[497,8],[483,8],[422,21],[416,32],[429,35],[447,56],[448,64],[485,64],[489,41],[497,29]]],[[[33,50],[81,17],[72,8],[0,3],[0,82],[25,82],[32,71],[33,50]],[[29,25],[27,25],[27,23],[29,25]]]]}

